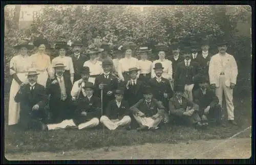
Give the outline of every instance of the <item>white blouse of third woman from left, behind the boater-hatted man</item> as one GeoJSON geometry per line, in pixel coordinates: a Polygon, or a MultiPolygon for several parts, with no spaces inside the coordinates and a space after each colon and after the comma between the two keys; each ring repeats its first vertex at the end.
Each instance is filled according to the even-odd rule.
{"type": "Polygon", "coordinates": [[[67,57],[67,56],[64,56],[64,57],[55,57],[54,59],[52,59],[52,67],[56,64],[56,63],[63,63],[66,67],[65,67],[65,70],[69,70],[70,71],[70,74],[74,74],[75,71],[74,71],[74,67],[73,67],[73,61],[72,61],[72,58],[71,57],[67,57]]]}

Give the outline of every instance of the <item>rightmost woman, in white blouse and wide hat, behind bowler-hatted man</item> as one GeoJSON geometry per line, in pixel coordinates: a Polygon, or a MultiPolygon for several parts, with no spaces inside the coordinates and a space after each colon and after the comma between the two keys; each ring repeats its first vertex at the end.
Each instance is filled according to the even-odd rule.
{"type": "MultiPolygon", "coordinates": [[[[151,71],[151,78],[154,78],[156,76],[155,72],[154,72],[154,66],[155,63],[162,63],[163,66],[163,74],[162,77],[169,80],[170,83],[173,81],[173,66],[172,66],[172,61],[165,59],[166,53],[168,52],[168,46],[164,45],[164,44],[157,44],[156,46],[156,50],[158,51],[158,60],[153,61],[152,63],[152,71],[151,71]]],[[[172,83],[171,83],[172,84],[172,83]]],[[[173,88],[173,87],[172,87],[173,88]]]]}

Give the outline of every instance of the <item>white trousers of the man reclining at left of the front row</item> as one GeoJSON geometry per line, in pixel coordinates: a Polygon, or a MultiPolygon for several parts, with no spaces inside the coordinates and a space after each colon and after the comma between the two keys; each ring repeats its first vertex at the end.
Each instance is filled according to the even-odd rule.
{"type": "MultiPolygon", "coordinates": [[[[99,120],[98,118],[94,117],[92,120],[81,123],[78,125],[78,129],[83,129],[83,128],[93,128],[99,125],[99,120]]],[[[55,129],[61,129],[61,128],[66,128],[67,126],[76,126],[74,123],[73,119],[70,120],[64,120],[61,123],[58,124],[48,124],[48,130],[55,130],[55,129]]]]}

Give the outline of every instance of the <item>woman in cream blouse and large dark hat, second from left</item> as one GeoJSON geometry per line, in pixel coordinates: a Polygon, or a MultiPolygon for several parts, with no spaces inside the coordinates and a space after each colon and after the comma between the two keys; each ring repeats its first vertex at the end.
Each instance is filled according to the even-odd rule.
{"type": "Polygon", "coordinates": [[[46,87],[46,81],[48,75],[54,75],[51,67],[50,56],[46,55],[46,48],[49,48],[49,43],[43,38],[37,38],[34,41],[34,45],[37,46],[38,52],[31,55],[32,67],[39,73],[37,83],[46,87]]]}

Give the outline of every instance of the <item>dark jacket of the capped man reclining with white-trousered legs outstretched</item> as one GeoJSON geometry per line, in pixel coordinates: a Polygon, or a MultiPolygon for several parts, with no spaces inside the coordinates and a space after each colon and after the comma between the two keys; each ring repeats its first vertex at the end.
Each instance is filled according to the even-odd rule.
{"type": "Polygon", "coordinates": [[[76,114],[81,115],[81,112],[87,112],[86,119],[88,120],[101,116],[100,99],[98,97],[93,95],[90,101],[87,97],[81,97],[76,103],[76,114]]]}

